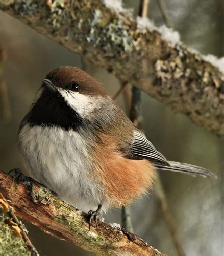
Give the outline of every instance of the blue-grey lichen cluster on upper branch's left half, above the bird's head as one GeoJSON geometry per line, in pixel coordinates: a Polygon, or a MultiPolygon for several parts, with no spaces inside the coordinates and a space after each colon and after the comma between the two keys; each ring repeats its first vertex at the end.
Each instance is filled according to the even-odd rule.
{"type": "Polygon", "coordinates": [[[90,43],[92,47],[101,45],[102,51],[108,56],[115,52],[131,52],[134,45],[130,27],[111,13],[105,15],[108,10],[103,5],[94,11],[92,6],[94,3],[88,4],[87,1],[76,5],[65,4],[60,0],[54,1],[54,4],[48,5],[48,23],[54,28],[54,33],[63,31],[67,40],[80,40],[82,44],[86,41],[86,44],[90,43]],[[82,8],[85,8],[83,12],[82,8]],[[87,12],[88,8],[89,12],[87,12]],[[68,22],[73,25],[73,33],[72,30],[66,32],[64,28],[68,22]]]}

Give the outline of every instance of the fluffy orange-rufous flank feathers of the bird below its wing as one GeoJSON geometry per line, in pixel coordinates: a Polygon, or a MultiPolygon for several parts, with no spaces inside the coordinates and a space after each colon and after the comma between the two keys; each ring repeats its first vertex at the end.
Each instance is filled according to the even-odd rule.
{"type": "Polygon", "coordinates": [[[129,204],[152,186],[155,168],[147,160],[124,158],[114,137],[100,135],[102,142],[93,151],[96,178],[103,185],[110,207],[129,204]]]}

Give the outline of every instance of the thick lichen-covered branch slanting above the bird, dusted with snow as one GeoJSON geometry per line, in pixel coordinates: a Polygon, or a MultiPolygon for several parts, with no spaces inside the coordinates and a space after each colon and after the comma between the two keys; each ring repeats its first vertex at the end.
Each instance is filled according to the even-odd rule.
{"type": "Polygon", "coordinates": [[[224,79],[200,54],[167,40],[108,0],[0,0],[0,9],[122,81],[224,134],[224,79]]]}

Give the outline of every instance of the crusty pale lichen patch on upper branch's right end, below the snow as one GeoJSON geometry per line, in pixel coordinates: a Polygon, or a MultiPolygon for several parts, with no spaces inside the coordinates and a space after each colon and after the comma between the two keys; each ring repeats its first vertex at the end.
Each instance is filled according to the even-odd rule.
{"type": "Polygon", "coordinates": [[[172,87],[173,81],[181,81],[182,79],[185,81],[185,88],[191,87],[195,93],[202,93],[206,86],[211,88],[211,84],[213,84],[216,90],[222,84],[221,79],[217,73],[212,71],[213,67],[209,63],[203,63],[202,58],[197,53],[189,54],[187,49],[181,46],[174,48],[168,58],[158,59],[154,67],[157,77],[166,87],[172,87]]]}

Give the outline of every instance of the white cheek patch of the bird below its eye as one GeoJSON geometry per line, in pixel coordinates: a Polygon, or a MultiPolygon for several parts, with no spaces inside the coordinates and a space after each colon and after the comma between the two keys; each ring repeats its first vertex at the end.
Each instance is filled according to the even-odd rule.
{"type": "Polygon", "coordinates": [[[67,104],[84,118],[90,116],[91,113],[99,107],[102,100],[101,96],[94,97],[70,90],[59,89],[59,93],[62,95],[67,104]]]}

